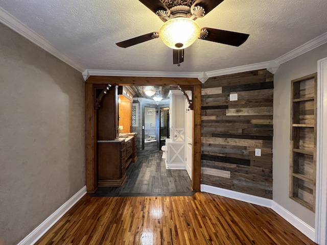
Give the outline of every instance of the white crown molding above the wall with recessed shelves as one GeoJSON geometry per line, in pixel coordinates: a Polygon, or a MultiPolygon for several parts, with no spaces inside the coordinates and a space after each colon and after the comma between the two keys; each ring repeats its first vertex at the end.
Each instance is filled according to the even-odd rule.
{"type": "Polygon", "coordinates": [[[281,65],[325,43],[327,43],[327,32],[310,40],[309,42],[306,42],[305,44],[302,44],[299,47],[294,48],[294,50],[286,53],[285,55],[278,57],[277,59],[275,59],[275,61],[278,65],[281,65]]]}

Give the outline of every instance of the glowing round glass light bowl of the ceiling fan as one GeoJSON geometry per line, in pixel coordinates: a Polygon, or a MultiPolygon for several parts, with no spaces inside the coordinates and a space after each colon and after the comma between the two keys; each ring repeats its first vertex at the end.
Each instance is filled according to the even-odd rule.
{"type": "Polygon", "coordinates": [[[181,50],[192,45],[200,36],[200,32],[200,26],[194,20],[177,17],[162,24],[159,37],[170,48],[181,50]]]}

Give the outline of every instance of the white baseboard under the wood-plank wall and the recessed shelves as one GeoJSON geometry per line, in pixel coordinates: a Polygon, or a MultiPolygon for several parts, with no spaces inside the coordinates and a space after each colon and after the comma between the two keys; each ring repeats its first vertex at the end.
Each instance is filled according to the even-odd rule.
{"type": "Polygon", "coordinates": [[[294,226],[304,235],[309,237],[312,241],[315,241],[315,229],[313,229],[311,226],[303,222],[301,219],[296,217],[294,214],[292,214],[291,212],[289,212],[288,210],[286,210],[285,208],[283,208],[281,205],[279,205],[273,200],[256,197],[255,195],[249,195],[249,194],[245,194],[233,190],[227,190],[227,189],[210,186],[210,185],[201,185],[201,191],[216,194],[216,195],[222,195],[223,197],[226,198],[232,198],[243,202],[271,208],[277,214],[281,215],[292,226],[294,226]]]}

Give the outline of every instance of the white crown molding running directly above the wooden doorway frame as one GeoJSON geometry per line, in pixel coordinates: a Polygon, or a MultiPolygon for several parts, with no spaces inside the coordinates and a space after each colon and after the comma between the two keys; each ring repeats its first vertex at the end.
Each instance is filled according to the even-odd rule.
{"type": "Polygon", "coordinates": [[[135,70],[88,70],[90,76],[148,77],[148,78],[198,78],[201,72],[165,72],[135,70]]]}

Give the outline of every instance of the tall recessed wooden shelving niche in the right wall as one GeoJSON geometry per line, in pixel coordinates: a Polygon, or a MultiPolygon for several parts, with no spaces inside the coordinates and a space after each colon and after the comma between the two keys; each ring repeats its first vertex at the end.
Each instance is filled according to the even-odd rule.
{"type": "Polygon", "coordinates": [[[290,191],[294,201],[315,211],[317,74],[292,80],[290,191]]]}

